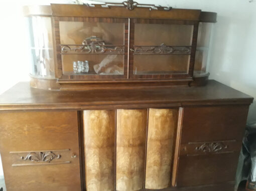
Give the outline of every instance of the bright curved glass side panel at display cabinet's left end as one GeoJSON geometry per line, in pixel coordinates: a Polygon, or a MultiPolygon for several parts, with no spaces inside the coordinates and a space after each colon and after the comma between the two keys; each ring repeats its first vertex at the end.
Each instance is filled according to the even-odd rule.
{"type": "Polygon", "coordinates": [[[31,46],[31,74],[54,78],[51,18],[31,16],[28,17],[28,25],[31,46]]]}

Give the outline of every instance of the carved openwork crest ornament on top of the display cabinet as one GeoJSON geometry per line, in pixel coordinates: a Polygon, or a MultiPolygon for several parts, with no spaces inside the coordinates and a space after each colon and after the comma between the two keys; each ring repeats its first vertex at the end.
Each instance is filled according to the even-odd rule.
{"type": "Polygon", "coordinates": [[[105,7],[109,8],[111,6],[120,6],[120,7],[126,7],[129,10],[133,10],[135,7],[145,7],[149,8],[149,10],[171,10],[172,7],[168,6],[156,6],[154,4],[141,4],[133,0],[125,0],[121,3],[118,2],[106,2],[105,4],[88,4],[84,3],[86,6],[89,7],[105,7]]]}

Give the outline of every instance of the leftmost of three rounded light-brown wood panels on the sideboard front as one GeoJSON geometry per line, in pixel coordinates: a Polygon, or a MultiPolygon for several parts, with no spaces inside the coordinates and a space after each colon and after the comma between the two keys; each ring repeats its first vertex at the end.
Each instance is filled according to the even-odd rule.
{"type": "Polygon", "coordinates": [[[87,191],[114,190],[115,111],[84,110],[87,191]]]}

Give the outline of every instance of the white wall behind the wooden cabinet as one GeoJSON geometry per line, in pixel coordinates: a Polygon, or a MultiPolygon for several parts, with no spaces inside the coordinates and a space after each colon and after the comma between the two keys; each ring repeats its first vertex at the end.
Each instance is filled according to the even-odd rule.
{"type": "MultiPolygon", "coordinates": [[[[256,98],[256,0],[137,1],[151,4],[157,2],[157,5],[168,5],[174,8],[196,8],[217,12],[218,22],[214,27],[210,50],[210,78],[256,98]]],[[[72,2],[72,0],[0,0],[0,93],[19,81],[29,80],[27,64],[29,58],[26,54],[28,44],[25,37],[22,5],[50,2],[63,3],[72,2]]],[[[250,106],[248,122],[256,122],[255,101],[250,106]]],[[[3,171],[0,167],[1,175],[3,171]]]]}

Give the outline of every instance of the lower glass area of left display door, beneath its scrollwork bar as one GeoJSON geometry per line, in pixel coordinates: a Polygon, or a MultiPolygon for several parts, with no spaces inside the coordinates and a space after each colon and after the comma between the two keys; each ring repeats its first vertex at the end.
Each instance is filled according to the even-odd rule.
{"type": "Polygon", "coordinates": [[[123,75],[123,55],[120,54],[62,54],[63,74],[73,75],[74,60],[87,60],[86,74],[123,75]]]}

